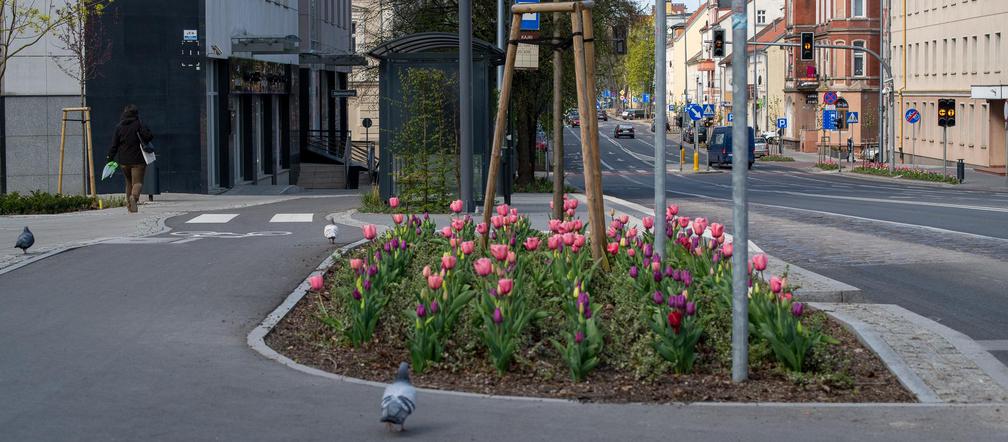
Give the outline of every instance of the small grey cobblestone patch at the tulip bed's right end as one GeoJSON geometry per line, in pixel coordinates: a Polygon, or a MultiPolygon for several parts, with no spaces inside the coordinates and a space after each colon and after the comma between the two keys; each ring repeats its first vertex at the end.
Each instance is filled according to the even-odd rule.
{"type": "Polygon", "coordinates": [[[867,326],[867,331],[887,344],[941,402],[1008,402],[1008,386],[998,383],[976,360],[932,327],[922,326],[921,321],[927,321],[924,318],[892,305],[824,304],[816,307],[867,326]]]}

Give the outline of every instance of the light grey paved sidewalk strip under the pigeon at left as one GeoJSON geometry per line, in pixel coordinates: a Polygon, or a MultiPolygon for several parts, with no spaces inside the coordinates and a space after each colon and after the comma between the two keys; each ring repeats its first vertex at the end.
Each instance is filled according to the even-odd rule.
{"type": "MultiPolygon", "coordinates": [[[[346,192],[342,192],[346,193],[346,192]]],[[[60,250],[94,244],[111,238],[147,236],[164,230],[164,220],[187,212],[237,209],[271,204],[311,194],[293,195],[197,195],[162,194],[153,202],[143,198],[139,213],[126,208],[72,212],[58,215],[0,216],[0,238],[14,239],[25,226],[35,235],[27,254],[16,248],[0,249],[0,269],[34,261],[60,250]]]]}

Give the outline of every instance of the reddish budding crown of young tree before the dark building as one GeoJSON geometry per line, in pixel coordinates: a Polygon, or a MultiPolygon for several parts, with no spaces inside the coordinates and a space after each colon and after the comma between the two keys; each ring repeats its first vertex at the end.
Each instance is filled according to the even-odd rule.
{"type": "Polygon", "coordinates": [[[58,25],[52,35],[67,56],[55,57],[59,70],[77,80],[81,106],[88,105],[86,86],[100,75],[99,68],[112,59],[112,39],[105,32],[101,16],[114,0],[71,0],[56,10],[58,25]]]}

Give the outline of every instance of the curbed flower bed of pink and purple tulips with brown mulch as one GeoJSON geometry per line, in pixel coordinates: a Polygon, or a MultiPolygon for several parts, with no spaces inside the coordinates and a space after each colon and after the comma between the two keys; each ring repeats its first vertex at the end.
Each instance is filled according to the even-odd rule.
{"type": "MultiPolygon", "coordinates": [[[[393,200],[390,206],[397,206],[393,200]]],[[[732,383],[731,255],[725,228],[672,205],[655,232],[611,214],[611,271],[592,259],[578,200],[549,231],[498,206],[392,215],[341,257],[323,288],[267,336],[301,363],[382,380],[409,360],[418,385],[586,401],[912,401],[870,350],[750,261],[751,380],[732,383]],[[489,235],[486,247],[481,235],[489,235]],[[654,235],[666,235],[656,250],[654,235]]],[[[313,283],[314,284],[314,283],[313,283]]]]}

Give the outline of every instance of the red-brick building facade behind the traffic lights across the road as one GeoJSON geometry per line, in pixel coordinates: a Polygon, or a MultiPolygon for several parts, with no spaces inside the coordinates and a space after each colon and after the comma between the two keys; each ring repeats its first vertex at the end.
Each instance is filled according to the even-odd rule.
{"type": "MultiPolygon", "coordinates": [[[[818,44],[880,47],[879,0],[786,0],[785,41],[800,42],[801,32],[813,32],[818,44]]],[[[881,67],[867,52],[817,47],[814,60],[802,61],[800,51],[788,49],[784,87],[784,136],[803,151],[846,146],[850,137],[860,151],[878,142],[878,94],[881,67]],[[824,96],[836,92],[838,115],[859,112],[860,122],[842,124],[840,131],[824,131],[824,96]]]]}

